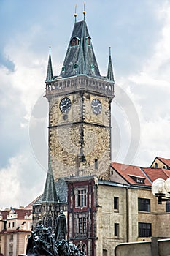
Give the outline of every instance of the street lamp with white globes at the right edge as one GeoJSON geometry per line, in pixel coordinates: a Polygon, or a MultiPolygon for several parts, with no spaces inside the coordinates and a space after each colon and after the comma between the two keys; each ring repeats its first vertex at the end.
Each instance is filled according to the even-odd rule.
{"type": "Polygon", "coordinates": [[[152,183],[152,194],[158,197],[158,204],[170,200],[170,178],[157,178],[152,183]]]}

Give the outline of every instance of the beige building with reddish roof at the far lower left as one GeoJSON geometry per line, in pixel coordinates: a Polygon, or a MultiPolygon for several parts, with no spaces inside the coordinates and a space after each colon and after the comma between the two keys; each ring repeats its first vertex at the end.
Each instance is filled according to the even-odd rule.
{"type": "Polygon", "coordinates": [[[4,256],[18,256],[26,252],[31,233],[30,209],[10,208],[0,211],[0,252],[4,256]]]}

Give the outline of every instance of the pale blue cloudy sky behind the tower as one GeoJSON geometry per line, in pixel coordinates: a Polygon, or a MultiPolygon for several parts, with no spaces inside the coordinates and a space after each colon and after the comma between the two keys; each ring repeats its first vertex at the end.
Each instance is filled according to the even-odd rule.
{"type": "MultiPolygon", "coordinates": [[[[45,78],[59,75],[83,1],[0,0],[0,208],[26,206],[47,175],[45,78]]],[[[149,167],[170,158],[170,1],[87,0],[101,75],[115,73],[112,161],[149,167]]]]}

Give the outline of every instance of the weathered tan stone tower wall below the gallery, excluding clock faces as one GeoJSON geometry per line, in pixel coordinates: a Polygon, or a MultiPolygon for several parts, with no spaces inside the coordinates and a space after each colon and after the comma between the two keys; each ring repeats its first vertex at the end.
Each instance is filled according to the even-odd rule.
{"type": "Polygon", "coordinates": [[[49,147],[55,180],[64,176],[96,174],[109,179],[110,164],[110,102],[108,98],[77,91],[68,94],[72,108],[61,113],[63,97],[50,99],[49,147]],[[101,113],[91,109],[91,101],[98,98],[101,113]],[[82,162],[81,157],[85,157],[82,162]],[[95,160],[98,160],[95,165],[95,160]]]}

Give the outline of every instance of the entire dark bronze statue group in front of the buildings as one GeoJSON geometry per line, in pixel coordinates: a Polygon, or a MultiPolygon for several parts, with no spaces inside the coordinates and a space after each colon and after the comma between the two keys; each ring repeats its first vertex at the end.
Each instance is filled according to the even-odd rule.
{"type": "Polygon", "coordinates": [[[58,216],[55,234],[51,227],[44,227],[41,219],[31,231],[26,249],[28,256],[85,256],[84,252],[66,241],[66,217],[63,211],[58,216]]]}

